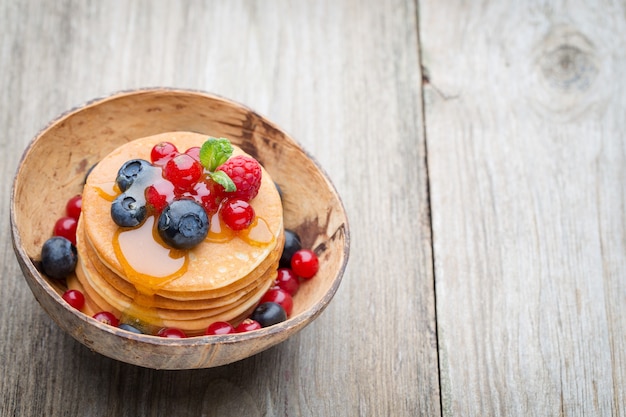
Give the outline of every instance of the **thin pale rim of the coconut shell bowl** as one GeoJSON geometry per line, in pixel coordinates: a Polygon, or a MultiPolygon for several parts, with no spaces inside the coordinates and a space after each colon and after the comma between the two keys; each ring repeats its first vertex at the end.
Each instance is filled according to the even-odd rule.
{"type": "MultiPolygon", "coordinates": [[[[26,267],[28,269],[28,271],[30,272],[30,275],[34,278],[36,283],[45,291],[45,293],[49,297],[53,298],[65,310],[73,314],[85,325],[95,326],[99,330],[105,331],[107,333],[111,333],[112,335],[117,336],[117,337],[134,340],[134,341],[141,342],[141,343],[148,343],[148,344],[156,345],[156,346],[166,346],[166,347],[187,346],[188,347],[188,346],[214,345],[214,344],[228,345],[228,344],[235,344],[235,343],[242,342],[242,341],[263,339],[271,335],[282,333],[288,329],[301,330],[302,328],[310,324],[317,316],[319,316],[326,309],[326,307],[328,306],[332,298],[335,296],[343,280],[343,276],[347,268],[348,260],[350,257],[350,226],[349,226],[349,219],[347,216],[347,212],[343,204],[343,200],[341,199],[341,196],[337,192],[337,189],[335,185],[332,183],[327,172],[319,164],[316,158],[313,157],[306,149],[304,149],[302,145],[299,142],[297,142],[290,134],[288,134],[283,128],[276,125],[272,120],[268,119],[267,117],[259,114],[258,112],[254,111],[253,109],[251,109],[250,107],[242,103],[225,98],[215,93],[210,93],[210,92],[206,92],[206,91],[199,90],[199,89],[186,89],[186,88],[177,88],[177,87],[142,87],[142,88],[137,88],[137,89],[119,90],[117,92],[114,92],[106,96],[101,96],[98,98],[88,100],[84,102],[82,105],[74,106],[71,109],[62,112],[61,114],[53,118],[50,122],[48,122],[43,128],[41,128],[26,145],[26,148],[24,149],[22,153],[22,156],[18,162],[16,171],[13,177],[11,194],[10,194],[10,210],[9,211],[10,211],[10,223],[11,223],[11,240],[12,240],[13,250],[19,260],[19,263],[22,264],[23,267],[26,267]],[[16,201],[17,201],[16,193],[17,193],[17,186],[19,183],[19,174],[21,172],[23,162],[27,158],[30,151],[39,142],[39,140],[41,139],[42,135],[45,132],[59,125],[64,120],[70,118],[71,116],[77,113],[85,111],[91,107],[98,106],[107,101],[118,100],[118,99],[128,97],[128,96],[135,96],[135,95],[141,95],[141,94],[159,94],[159,93],[198,95],[198,96],[209,98],[209,99],[223,101],[230,105],[233,105],[243,110],[246,110],[248,112],[251,112],[257,115],[264,122],[268,123],[274,129],[282,132],[288,139],[293,141],[298,146],[298,148],[306,155],[306,157],[311,160],[311,162],[315,165],[316,169],[320,171],[324,180],[326,181],[330,190],[332,191],[333,195],[337,199],[337,202],[339,203],[342,213],[344,214],[344,218],[345,218],[341,227],[335,232],[337,233],[339,230],[341,230],[341,232],[343,233],[343,239],[344,239],[344,244],[342,245],[342,258],[343,259],[339,266],[339,269],[335,273],[335,277],[332,280],[331,286],[324,293],[323,297],[320,300],[315,302],[313,305],[311,305],[309,308],[302,311],[301,313],[293,317],[290,317],[281,323],[278,323],[269,327],[264,327],[258,330],[253,330],[253,331],[249,331],[245,333],[226,334],[226,335],[190,336],[190,337],[183,338],[183,339],[164,338],[164,337],[149,335],[149,334],[136,334],[136,333],[132,333],[132,332],[120,329],[118,327],[100,323],[96,319],[90,317],[89,315],[85,313],[82,313],[81,311],[71,307],[68,303],[66,303],[61,297],[61,295],[52,287],[52,285],[48,282],[48,280],[44,278],[41,272],[35,267],[33,260],[28,256],[28,254],[23,248],[22,237],[17,227],[17,221],[15,218],[16,201]]],[[[24,273],[22,272],[22,276],[23,275],[24,273]]],[[[26,279],[26,277],[23,277],[23,278],[27,281],[27,283],[29,282],[26,279]]],[[[36,295],[36,294],[33,292],[33,295],[36,295]]],[[[39,300],[37,301],[39,302],[39,300]]],[[[44,311],[46,310],[44,309],[44,311]]],[[[62,325],[60,325],[60,327],[63,328],[62,325]]]]}

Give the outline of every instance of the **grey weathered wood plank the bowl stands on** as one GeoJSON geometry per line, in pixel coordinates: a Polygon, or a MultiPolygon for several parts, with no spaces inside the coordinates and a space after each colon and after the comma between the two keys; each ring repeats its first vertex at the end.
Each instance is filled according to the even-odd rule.
{"type": "MultiPolygon", "coordinates": [[[[76,105],[201,89],[268,116],[318,160],[353,242],[337,296],[296,337],[224,367],[153,371],[90,352],[43,313],[2,205],[0,415],[440,414],[413,1],[0,0],[0,21],[4,178],[76,105]]],[[[9,181],[0,192],[8,202],[9,181]]]]}

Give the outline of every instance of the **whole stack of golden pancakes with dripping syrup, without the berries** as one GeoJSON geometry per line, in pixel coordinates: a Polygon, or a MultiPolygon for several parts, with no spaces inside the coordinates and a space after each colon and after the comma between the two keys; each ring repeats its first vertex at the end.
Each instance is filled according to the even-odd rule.
{"type": "MultiPolygon", "coordinates": [[[[190,250],[167,247],[154,231],[154,216],[136,229],[111,219],[115,178],[130,159],[150,160],[157,143],[179,151],[202,146],[207,136],[171,132],[129,142],[106,156],[89,174],[77,231],[76,277],[68,286],[83,292],[85,313],[110,311],[144,332],[176,327],[202,334],[216,321],[245,319],[276,278],[283,249],[282,204],[274,182],[262,171],[258,195],[250,201],[260,223],[257,238],[211,236],[190,250]],[[261,236],[259,238],[258,236],[261,236]]],[[[234,155],[243,154],[235,147],[234,155]]],[[[212,229],[219,227],[217,216],[212,229]]]]}

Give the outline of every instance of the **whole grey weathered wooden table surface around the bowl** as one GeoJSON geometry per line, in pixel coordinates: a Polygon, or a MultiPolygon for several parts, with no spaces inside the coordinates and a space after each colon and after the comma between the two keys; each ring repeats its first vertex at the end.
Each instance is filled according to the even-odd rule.
{"type": "Polygon", "coordinates": [[[0,0],[0,33],[0,415],[626,415],[624,2],[0,0]],[[155,86],[269,117],[350,219],[324,313],[219,368],[92,353],[12,249],[37,131],[155,86]]]}

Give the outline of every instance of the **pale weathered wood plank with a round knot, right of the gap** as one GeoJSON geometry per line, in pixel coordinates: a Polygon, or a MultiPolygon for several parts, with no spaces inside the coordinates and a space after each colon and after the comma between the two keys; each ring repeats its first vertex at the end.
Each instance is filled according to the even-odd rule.
{"type": "Polygon", "coordinates": [[[420,2],[444,415],[625,415],[624,5],[420,2]]]}

